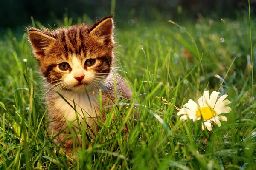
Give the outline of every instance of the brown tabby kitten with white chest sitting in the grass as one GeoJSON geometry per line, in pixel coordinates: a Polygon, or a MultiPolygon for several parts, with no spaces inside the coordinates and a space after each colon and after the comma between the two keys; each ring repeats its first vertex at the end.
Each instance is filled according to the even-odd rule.
{"type": "MultiPolygon", "coordinates": [[[[115,45],[113,27],[110,16],[93,26],[81,24],[55,31],[29,29],[35,59],[46,79],[46,105],[51,122],[49,134],[57,136],[56,144],[64,146],[68,155],[72,155],[73,138],[67,136],[74,132],[72,130],[76,131],[78,122],[95,127],[95,121],[106,119],[105,113],[99,111],[99,102],[93,92],[102,90],[102,104],[106,107],[108,102],[116,102],[116,81],[118,99],[131,98],[131,90],[125,81],[111,69],[115,45]],[[67,128],[70,122],[73,122],[72,130],[67,128]]],[[[81,137],[76,140],[81,145],[81,137]]]]}

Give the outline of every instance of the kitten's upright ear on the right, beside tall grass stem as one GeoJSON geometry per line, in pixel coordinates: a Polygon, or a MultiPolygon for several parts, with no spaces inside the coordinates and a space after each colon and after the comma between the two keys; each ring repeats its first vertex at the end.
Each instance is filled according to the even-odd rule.
{"type": "Polygon", "coordinates": [[[113,24],[112,16],[105,17],[92,26],[90,30],[90,34],[95,34],[97,36],[104,36],[104,37],[112,37],[113,28],[114,28],[114,24],[113,24]]]}

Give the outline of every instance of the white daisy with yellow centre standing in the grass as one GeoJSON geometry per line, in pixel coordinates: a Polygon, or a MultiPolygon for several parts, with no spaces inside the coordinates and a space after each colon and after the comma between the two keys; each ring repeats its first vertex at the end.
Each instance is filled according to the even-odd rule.
{"type": "Polygon", "coordinates": [[[177,113],[177,115],[183,115],[180,117],[180,120],[192,119],[194,122],[200,119],[203,119],[202,129],[206,127],[208,130],[212,130],[212,121],[215,122],[218,127],[221,126],[222,121],[227,121],[227,117],[220,115],[221,113],[229,113],[231,108],[226,106],[231,102],[229,100],[225,100],[228,96],[224,94],[220,96],[218,95],[220,92],[213,91],[209,97],[209,91],[204,91],[203,96],[198,99],[198,104],[193,100],[189,99],[189,101],[183,105],[183,108],[177,113]]]}

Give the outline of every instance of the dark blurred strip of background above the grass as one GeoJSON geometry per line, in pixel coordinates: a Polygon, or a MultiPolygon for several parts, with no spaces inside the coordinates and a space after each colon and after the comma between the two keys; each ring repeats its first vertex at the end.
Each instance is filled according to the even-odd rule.
{"type": "MultiPolygon", "coordinates": [[[[44,26],[52,26],[64,15],[77,23],[81,17],[95,20],[113,12],[120,25],[141,19],[177,22],[200,16],[236,18],[247,13],[247,3],[247,0],[0,0],[0,29],[22,30],[31,24],[31,16],[44,26]]],[[[255,11],[256,0],[250,0],[250,5],[255,11]]]]}

